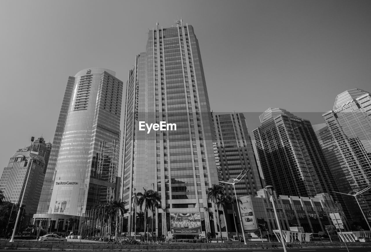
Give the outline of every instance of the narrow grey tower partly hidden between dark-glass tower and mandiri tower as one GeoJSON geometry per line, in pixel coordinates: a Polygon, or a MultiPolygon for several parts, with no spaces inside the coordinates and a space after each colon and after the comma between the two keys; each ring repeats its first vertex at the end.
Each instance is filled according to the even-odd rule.
{"type": "MultiPolygon", "coordinates": [[[[342,158],[340,149],[338,148],[334,137],[332,137],[331,131],[325,123],[313,125],[313,130],[315,131],[319,144],[324,151],[325,158],[328,162],[331,173],[334,176],[336,185],[339,188],[339,192],[348,193],[352,190],[352,188],[350,187],[346,179],[346,175],[344,174],[344,168],[347,167],[347,163],[345,162],[345,159],[342,158]]],[[[343,199],[345,205],[342,205],[342,207],[348,221],[357,219],[357,216],[359,218],[361,212],[359,211],[359,207],[357,202],[355,202],[355,199],[353,197],[344,196],[343,199]]]]}

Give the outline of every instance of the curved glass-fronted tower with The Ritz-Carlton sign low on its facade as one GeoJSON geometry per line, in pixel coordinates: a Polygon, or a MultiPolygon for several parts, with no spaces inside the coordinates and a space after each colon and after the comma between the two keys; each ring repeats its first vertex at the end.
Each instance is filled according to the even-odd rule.
{"type": "Polygon", "coordinates": [[[59,140],[63,132],[53,152],[55,171],[45,186],[50,200],[44,213],[34,215],[35,222],[51,219],[53,230],[72,216],[92,218],[93,206],[118,199],[122,85],[114,71],[104,68],[69,77],[55,134],[59,140]]]}

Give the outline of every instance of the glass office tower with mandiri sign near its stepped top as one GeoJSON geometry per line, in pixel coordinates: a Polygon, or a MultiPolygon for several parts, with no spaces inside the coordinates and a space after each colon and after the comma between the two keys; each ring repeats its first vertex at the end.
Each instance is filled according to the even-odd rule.
{"type": "MultiPolygon", "coordinates": [[[[367,188],[371,185],[371,94],[358,88],[347,90],[336,97],[332,110],[322,116],[340,151],[339,174],[341,182],[348,184],[340,187],[341,192],[367,188]]],[[[359,196],[359,203],[371,221],[371,190],[359,196]]]]}

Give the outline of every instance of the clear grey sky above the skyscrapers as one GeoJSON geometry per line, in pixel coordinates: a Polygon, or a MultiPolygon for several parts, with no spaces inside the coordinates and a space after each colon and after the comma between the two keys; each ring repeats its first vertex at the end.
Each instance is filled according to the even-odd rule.
{"type": "Polygon", "coordinates": [[[213,111],[244,112],[250,130],[268,107],[322,123],[337,94],[371,91],[370,10],[360,0],[2,0],[0,172],[31,136],[53,140],[68,76],[102,67],[126,83],[148,28],[177,17],[194,26],[213,111]]]}

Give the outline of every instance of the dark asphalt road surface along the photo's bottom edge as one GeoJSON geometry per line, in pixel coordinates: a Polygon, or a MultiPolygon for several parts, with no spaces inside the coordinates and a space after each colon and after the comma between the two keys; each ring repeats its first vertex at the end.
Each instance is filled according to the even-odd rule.
{"type": "MultiPolygon", "coordinates": [[[[14,252],[12,249],[3,249],[0,251],[14,252]]],[[[16,250],[17,252],[30,252],[29,250],[16,250]]],[[[38,251],[38,250],[33,250],[38,251]]],[[[188,250],[189,251],[189,250],[188,250]]],[[[232,250],[207,250],[207,251],[232,251],[232,250]]],[[[283,252],[283,249],[238,249],[241,252],[283,252]]],[[[287,249],[288,252],[347,252],[346,248],[298,248],[287,249]]],[[[45,250],[43,250],[45,252],[45,250]]],[[[81,252],[81,251],[79,251],[81,252]]],[[[187,250],[179,250],[179,252],[187,252],[187,250]]],[[[205,252],[205,250],[193,250],[193,252],[205,252]]],[[[371,252],[371,248],[349,248],[349,252],[371,252]]]]}

